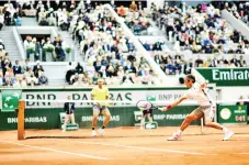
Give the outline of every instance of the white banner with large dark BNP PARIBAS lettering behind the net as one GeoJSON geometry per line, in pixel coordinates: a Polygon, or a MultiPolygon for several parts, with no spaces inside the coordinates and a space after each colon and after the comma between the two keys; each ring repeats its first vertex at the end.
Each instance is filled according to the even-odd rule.
{"type": "MultiPolygon", "coordinates": [[[[110,99],[124,101],[116,106],[135,106],[125,101],[150,100],[150,101],[172,101],[180,98],[186,88],[110,88],[110,99]]],[[[91,100],[91,88],[80,89],[23,89],[22,98],[29,100],[66,100],[71,96],[72,100],[91,100]]],[[[90,103],[77,102],[76,107],[89,107],[90,103]]],[[[63,107],[61,102],[38,102],[26,101],[26,108],[57,108],[63,107]]]]}

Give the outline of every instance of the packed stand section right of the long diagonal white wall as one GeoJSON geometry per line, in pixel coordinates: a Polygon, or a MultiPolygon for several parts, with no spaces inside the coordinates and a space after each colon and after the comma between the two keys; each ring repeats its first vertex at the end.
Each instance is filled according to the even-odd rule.
{"type": "Polygon", "coordinates": [[[182,2],[180,7],[170,7],[166,2],[165,7],[159,10],[152,3],[150,10],[151,12],[137,10],[134,1],[129,8],[116,9],[117,13],[125,18],[125,23],[135,35],[147,37],[140,42],[166,75],[177,75],[181,79],[182,74],[190,74],[192,67],[248,66],[244,57],[244,54],[248,52],[248,40],[234,30],[222,18],[220,10],[215,9],[212,3],[203,2],[191,7],[182,2]],[[143,21],[148,26],[156,23],[161,30],[161,34],[165,34],[166,40],[170,41],[172,45],[166,45],[167,41],[162,42],[160,37],[156,36],[151,42],[147,28],[143,28],[143,21]],[[147,32],[143,33],[144,30],[147,32]],[[167,48],[167,46],[171,48],[167,48]],[[191,54],[197,55],[193,57],[191,54]],[[213,54],[219,55],[214,56],[213,54]],[[237,56],[224,57],[224,54],[237,54],[237,56]]]}

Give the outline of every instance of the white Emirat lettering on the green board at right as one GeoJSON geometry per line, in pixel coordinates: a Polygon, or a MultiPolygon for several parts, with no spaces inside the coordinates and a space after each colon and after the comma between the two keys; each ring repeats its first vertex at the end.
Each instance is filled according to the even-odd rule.
{"type": "Polygon", "coordinates": [[[248,80],[249,79],[249,72],[245,70],[219,70],[213,69],[212,70],[213,80],[248,80]]]}

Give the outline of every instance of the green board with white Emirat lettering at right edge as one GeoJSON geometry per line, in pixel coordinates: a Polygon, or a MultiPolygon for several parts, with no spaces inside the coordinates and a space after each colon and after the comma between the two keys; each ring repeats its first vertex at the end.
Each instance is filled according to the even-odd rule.
{"type": "Polygon", "coordinates": [[[216,86],[249,86],[249,68],[196,68],[210,82],[216,86]]]}

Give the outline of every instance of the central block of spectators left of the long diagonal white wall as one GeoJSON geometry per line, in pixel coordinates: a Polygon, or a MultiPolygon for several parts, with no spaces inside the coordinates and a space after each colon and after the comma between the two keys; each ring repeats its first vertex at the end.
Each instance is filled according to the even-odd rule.
{"type": "Polygon", "coordinates": [[[83,74],[71,67],[67,72],[67,81],[72,85],[97,84],[98,77],[103,77],[106,84],[158,84],[157,76],[111,12],[104,6],[87,11],[81,4],[72,15],[69,32],[80,43],[88,65],[83,74]]]}

